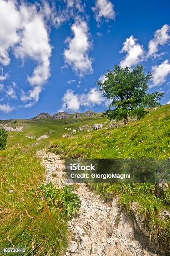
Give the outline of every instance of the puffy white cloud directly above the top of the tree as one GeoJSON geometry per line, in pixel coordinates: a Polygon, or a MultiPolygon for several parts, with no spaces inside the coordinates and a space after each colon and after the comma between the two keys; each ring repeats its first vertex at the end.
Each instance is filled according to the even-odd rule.
{"type": "Polygon", "coordinates": [[[144,50],[143,46],[137,43],[137,39],[133,36],[130,36],[126,39],[126,41],[123,43],[123,47],[120,51],[120,53],[126,53],[125,59],[120,61],[121,67],[131,67],[135,64],[138,64],[138,62],[143,60],[144,57],[144,50]]]}

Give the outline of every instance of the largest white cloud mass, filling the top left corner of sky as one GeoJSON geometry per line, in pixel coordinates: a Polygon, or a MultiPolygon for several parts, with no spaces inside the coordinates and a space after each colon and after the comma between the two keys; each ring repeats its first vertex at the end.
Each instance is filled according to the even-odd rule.
{"type": "MultiPolygon", "coordinates": [[[[16,58],[23,62],[31,59],[37,63],[33,74],[28,76],[28,82],[33,88],[28,92],[28,100],[37,102],[32,97],[35,91],[42,91],[42,85],[50,77],[50,56],[51,49],[49,40],[49,29],[47,19],[50,15],[50,6],[43,2],[42,5],[18,4],[13,0],[0,0],[0,62],[3,65],[10,63],[10,51],[16,58]],[[36,88],[39,90],[36,90],[36,88]],[[41,90],[40,90],[41,88],[41,90]]],[[[5,80],[7,75],[0,76],[5,80]]],[[[9,93],[12,92],[10,89],[9,93]]],[[[9,95],[9,94],[7,94],[9,95]]],[[[12,93],[9,95],[11,97],[12,93]]],[[[14,97],[14,96],[13,96],[14,97]]],[[[21,97],[21,100],[23,97],[21,97]]],[[[26,97],[25,97],[26,100],[26,97]]]]}

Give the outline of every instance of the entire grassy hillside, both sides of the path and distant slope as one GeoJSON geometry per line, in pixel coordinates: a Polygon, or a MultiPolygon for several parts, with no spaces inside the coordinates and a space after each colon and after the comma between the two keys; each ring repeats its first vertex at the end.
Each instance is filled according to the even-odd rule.
{"type": "MultiPolygon", "coordinates": [[[[56,190],[51,185],[42,186],[45,170],[35,157],[37,149],[50,148],[63,159],[170,157],[170,105],[150,110],[145,118],[132,121],[127,126],[121,125],[120,121],[115,122],[117,128],[109,127],[111,123],[107,118],[101,118],[100,113],[70,120],[0,120],[0,124],[13,128],[23,127],[23,132],[8,132],[7,148],[0,151],[1,247],[10,247],[14,242],[19,247],[25,243],[28,255],[32,250],[37,253],[35,255],[51,255],[54,252],[62,255],[67,246],[67,210],[63,205],[57,204],[57,208],[49,205],[48,195],[52,192],[52,196],[59,200],[68,193],[72,198],[72,192],[67,188],[56,190]],[[103,128],[87,131],[95,123],[102,123],[103,128]],[[76,129],[77,132],[72,133],[72,130],[65,128],[76,129]],[[69,137],[63,138],[64,133],[68,133],[69,137]],[[49,138],[37,140],[45,134],[49,138]],[[35,143],[39,144],[32,146],[35,143]],[[13,192],[10,193],[10,190],[13,192]],[[44,205],[41,197],[46,198],[44,205]],[[59,210],[60,207],[62,210],[59,210]],[[52,232],[49,233],[49,230],[52,232]],[[40,247],[42,251],[38,254],[40,247]]],[[[164,210],[170,211],[170,189],[157,197],[156,184],[95,183],[90,187],[107,200],[118,196],[119,205],[129,215],[132,214],[132,203],[137,202],[141,220],[150,231],[150,240],[168,251],[170,219],[162,219],[160,215],[164,210]]]]}

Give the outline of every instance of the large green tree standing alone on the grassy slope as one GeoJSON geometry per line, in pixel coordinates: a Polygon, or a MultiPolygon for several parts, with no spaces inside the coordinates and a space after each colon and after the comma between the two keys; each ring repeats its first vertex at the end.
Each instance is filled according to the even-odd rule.
{"type": "Polygon", "coordinates": [[[128,116],[144,117],[146,108],[159,106],[158,102],[164,93],[148,93],[148,82],[152,78],[151,72],[145,74],[143,66],[136,66],[133,70],[129,67],[122,68],[115,65],[114,69],[105,74],[105,81],[97,84],[100,91],[111,102],[103,116],[110,120],[124,120],[128,124],[128,116]]]}

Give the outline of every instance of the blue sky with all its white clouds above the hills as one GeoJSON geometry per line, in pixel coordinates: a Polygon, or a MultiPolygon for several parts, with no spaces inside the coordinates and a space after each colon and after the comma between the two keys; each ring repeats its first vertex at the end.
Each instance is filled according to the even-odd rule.
{"type": "Polygon", "coordinates": [[[92,109],[113,65],[143,64],[170,102],[170,1],[0,0],[0,119],[92,109]]]}

